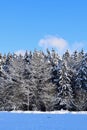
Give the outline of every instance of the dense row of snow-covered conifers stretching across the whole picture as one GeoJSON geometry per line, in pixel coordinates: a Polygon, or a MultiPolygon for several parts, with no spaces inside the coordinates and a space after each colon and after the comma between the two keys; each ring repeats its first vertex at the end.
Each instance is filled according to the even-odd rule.
{"type": "Polygon", "coordinates": [[[86,111],[87,53],[0,54],[0,111],[86,111]]]}

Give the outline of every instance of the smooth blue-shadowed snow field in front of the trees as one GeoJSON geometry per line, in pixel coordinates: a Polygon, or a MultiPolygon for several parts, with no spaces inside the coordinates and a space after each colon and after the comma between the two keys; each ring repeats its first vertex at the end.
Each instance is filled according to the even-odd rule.
{"type": "Polygon", "coordinates": [[[0,130],[87,130],[87,114],[0,112],[0,130]]]}

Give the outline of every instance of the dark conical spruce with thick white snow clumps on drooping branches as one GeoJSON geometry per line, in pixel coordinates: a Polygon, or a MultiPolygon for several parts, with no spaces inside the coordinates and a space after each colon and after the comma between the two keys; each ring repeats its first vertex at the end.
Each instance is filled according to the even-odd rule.
{"type": "Polygon", "coordinates": [[[71,87],[71,75],[66,64],[63,62],[59,70],[58,98],[61,109],[71,109],[73,91],[71,87]]]}

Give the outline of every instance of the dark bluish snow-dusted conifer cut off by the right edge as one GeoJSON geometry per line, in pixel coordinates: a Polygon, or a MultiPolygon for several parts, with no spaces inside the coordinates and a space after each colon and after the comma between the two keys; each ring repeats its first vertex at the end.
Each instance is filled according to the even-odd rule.
{"type": "Polygon", "coordinates": [[[74,93],[76,109],[83,110],[84,104],[87,102],[87,55],[83,58],[76,72],[74,93]]]}

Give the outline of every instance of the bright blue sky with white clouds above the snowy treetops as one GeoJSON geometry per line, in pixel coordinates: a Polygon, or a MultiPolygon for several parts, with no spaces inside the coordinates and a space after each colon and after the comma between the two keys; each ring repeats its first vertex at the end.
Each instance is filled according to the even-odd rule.
{"type": "Polygon", "coordinates": [[[1,0],[0,52],[87,50],[86,0],[1,0]]]}

